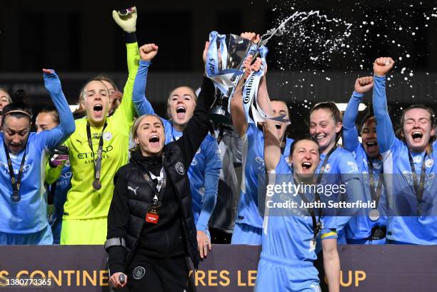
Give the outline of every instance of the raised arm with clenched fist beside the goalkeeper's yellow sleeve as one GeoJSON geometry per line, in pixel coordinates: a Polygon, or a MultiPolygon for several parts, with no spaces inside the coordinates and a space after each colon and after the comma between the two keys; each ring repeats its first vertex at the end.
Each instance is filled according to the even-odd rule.
{"type": "Polygon", "coordinates": [[[147,72],[151,60],[158,54],[158,46],[155,44],[145,44],[139,48],[140,62],[138,72],[134,82],[134,91],[132,92],[132,102],[134,102],[136,114],[155,114],[154,108],[146,99],[147,72]]]}

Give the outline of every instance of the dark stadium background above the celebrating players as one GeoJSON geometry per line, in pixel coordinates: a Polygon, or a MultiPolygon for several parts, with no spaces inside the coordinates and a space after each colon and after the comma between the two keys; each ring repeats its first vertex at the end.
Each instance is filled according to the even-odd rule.
{"type": "MultiPolygon", "coordinates": [[[[209,31],[262,34],[292,11],[320,10],[328,17],[353,23],[350,39],[356,45],[363,44],[359,50],[363,62],[356,61],[356,54],[333,54],[329,62],[309,64],[305,51],[278,54],[277,44],[283,38],[269,42],[268,89],[271,98],[286,100],[291,106],[292,124],[297,125],[291,126],[291,135],[295,136],[307,131],[302,121],[308,116],[308,107],[325,100],[347,103],[354,80],[371,73],[371,63],[376,57],[393,56],[397,60],[399,51],[382,44],[378,38],[363,36],[363,30],[358,29],[366,15],[371,14],[368,17],[381,20],[390,16],[396,24],[420,28],[416,38],[393,31],[391,24],[383,21],[378,21],[374,28],[387,34],[388,39],[396,39],[412,56],[408,60],[404,58],[395,69],[392,86],[388,88],[388,102],[396,123],[401,109],[409,104],[427,104],[436,109],[437,18],[427,21],[425,26],[421,14],[437,4],[421,1],[418,5],[418,2],[1,0],[0,86],[8,88],[10,93],[25,89],[36,111],[50,102],[42,84],[41,68],[56,69],[70,104],[76,103],[81,86],[96,74],[113,77],[122,88],[127,76],[126,53],[121,29],[114,24],[111,10],[136,4],[139,45],[149,42],[159,45],[159,55],[149,70],[147,97],[156,111],[164,115],[166,97],[172,88],[182,84],[199,86],[201,52],[209,31]],[[410,9],[413,17],[405,15],[409,4],[415,4],[410,9]],[[279,70],[278,59],[289,62],[291,70],[279,70]],[[364,64],[363,69],[359,64],[364,64]],[[401,67],[414,72],[408,82],[403,82],[401,67]]],[[[365,99],[366,103],[369,101],[371,94],[365,99]]],[[[364,114],[363,111],[358,119],[364,114]]]]}

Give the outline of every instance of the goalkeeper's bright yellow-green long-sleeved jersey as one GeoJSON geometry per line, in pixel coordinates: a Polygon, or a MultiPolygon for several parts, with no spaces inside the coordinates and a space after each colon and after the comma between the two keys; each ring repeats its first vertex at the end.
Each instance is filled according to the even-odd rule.
{"type": "Polygon", "coordinates": [[[132,89],[139,66],[137,43],[126,44],[129,76],[124,86],[123,99],[114,115],[106,119],[103,134],[101,160],[101,189],[93,188],[94,156],[97,156],[99,139],[103,126],[91,126],[93,152],[86,136],[86,118],[76,120],[76,131],[65,142],[69,147],[69,161],[73,176],[71,188],[64,205],[64,220],[90,219],[108,216],[114,175],[127,163],[129,152],[129,132],[134,121],[135,109],[132,103],[132,89]]]}

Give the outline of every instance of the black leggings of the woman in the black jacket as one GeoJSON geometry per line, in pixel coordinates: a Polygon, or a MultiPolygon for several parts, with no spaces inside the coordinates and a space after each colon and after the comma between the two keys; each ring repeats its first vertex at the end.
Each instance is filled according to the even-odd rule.
{"type": "Polygon", "coordinates": [[[189,269],[184,256],[178,258],[146,258],[134,256],[126,271],[130,292],[188,291],[189,269]]]}

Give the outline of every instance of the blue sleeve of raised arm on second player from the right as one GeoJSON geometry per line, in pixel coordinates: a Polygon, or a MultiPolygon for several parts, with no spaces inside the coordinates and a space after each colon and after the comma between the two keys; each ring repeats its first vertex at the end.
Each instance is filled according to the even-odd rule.
{"type": "Polygon", "coordinates": [[[353,91],[343,116],[343,146],[351,152],[356,151],[356,148],[360,146],[358,130],[356,129],[356,116],[358,116],[358,106],[363,96],[364,94],[353,91]]]}

